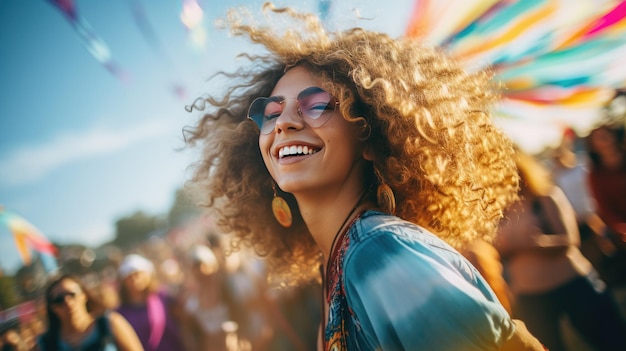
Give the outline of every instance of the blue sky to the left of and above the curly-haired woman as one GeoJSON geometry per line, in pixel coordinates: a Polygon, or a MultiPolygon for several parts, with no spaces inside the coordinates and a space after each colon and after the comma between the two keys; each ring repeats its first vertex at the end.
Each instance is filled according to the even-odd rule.
{"type": "MultiPolygon", "coordinates": [[[[83,46],[62,13],[44,0],[0,0],[0,205],[59,243],[99,245],[115,220],[142,210],[165,213],[193,160],[181,130],[196,114],[194,98],[215,89],[205,80],[236,67],[250,49],[214,27],[228,8],[262,1],[213,1],[203,6],[207,39],[192,45],[180,21],[180,0],[142,0],[161,43],[156,52],[133,20],[131,1],[75,1],[79,15],[127,71],[109,73],[83,46]],[[186,89],[184,98],[172,82],[186,89]]],[[[277,1],[314,11],[317,1],[277,1]]],[[[412,0],[332,1],[329,20],[399,36],[412,0]],[[370,21],[356,21],[354,8],[370,21]]],[[[15,255],[0,228],[0,255],[15,255]]]]}

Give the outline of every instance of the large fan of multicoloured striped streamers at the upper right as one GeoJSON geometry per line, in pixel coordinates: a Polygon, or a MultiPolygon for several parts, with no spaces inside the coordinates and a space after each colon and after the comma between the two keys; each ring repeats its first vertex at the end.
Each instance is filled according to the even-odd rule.
{"type": "Polygon", "coordinates": [[[495,69],[497,123],[514,140],[551,129],[535,152],[564,128],[589,132],[626,85],[626,0],[417,0],[405,34],[495,69]]]}

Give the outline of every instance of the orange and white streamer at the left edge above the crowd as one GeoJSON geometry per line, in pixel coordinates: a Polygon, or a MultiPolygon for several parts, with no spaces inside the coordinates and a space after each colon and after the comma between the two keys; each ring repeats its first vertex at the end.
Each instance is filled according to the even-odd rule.
{"type": "Polygon", "coordinates": [[[26,265],[32,261],[31,250],[56,257],[57,248],[32,224],[0,206],[0,224],[13,234],[17,252],[26,265]]]}

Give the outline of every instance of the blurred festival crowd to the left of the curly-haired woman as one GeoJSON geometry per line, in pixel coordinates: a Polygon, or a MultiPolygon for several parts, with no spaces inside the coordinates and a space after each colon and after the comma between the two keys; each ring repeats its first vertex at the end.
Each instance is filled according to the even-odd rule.
{"type": "Polygon", "coordinates": [[[155,351],[315,345],[318,284],[270,286],[258,256],[245,249],[225,254],[227,245],[215,234],[186,246],[169,239],[153,237],[97,268],[61,264],[31,300],[13,308],[19,318],[6,318],[12,309],[3,312],[0,350],[102,350],[98,343],[155,351]],[[108,323],[100,330],[102,316],[108,323]]]}

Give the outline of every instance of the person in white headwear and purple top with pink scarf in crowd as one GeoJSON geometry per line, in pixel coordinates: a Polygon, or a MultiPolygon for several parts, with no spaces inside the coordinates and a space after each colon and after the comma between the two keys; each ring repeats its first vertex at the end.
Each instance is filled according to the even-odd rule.
{"type": "Polygon", "coordinates": [[[180,302],[159,289],[154,264],[130,254],[119,269],[120,305],[117,311],[135,329],[147,351],[191,350],[187,319],[180,302]]]}

